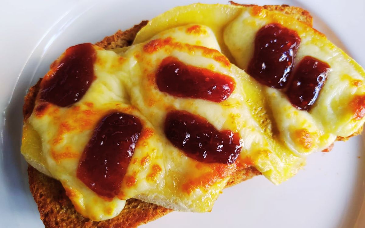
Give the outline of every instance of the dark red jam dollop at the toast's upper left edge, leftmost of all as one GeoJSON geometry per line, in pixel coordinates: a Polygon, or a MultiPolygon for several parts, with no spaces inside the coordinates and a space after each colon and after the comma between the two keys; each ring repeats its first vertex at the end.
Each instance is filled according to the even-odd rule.
{"type": "Polygon", "coordinates": [[[68,48],[53,73],[42,80],[41,100],[61,107],[80,100],[93,81],[95,58],[91,43],[68,48]]]}

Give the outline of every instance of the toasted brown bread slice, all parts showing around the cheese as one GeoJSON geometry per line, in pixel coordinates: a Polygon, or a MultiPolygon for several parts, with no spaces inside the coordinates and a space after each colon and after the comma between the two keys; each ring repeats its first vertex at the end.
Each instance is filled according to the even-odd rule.
{"type": "MultiPolygon", "coordinates": [[[[235,4],[231,2],[231,4],[235,4]]],[[[252,6],[252,5],[244,5],[252,6]]],[[[308,11],[291,7],[288,5],[265,5],[265,9],[280,11],[291,15],[293,18],[312,25],[312,17],[308,11]]],[[[126,47],[132,44],[137,32],[147,24],[147,21],[142,21],[140,24],[130,28],[126,31],[118,31],[112,36],[105,37],[102,41],[96,43],[99,47],[104,49],[115,49],[126,47]]],[[[24,120],[26,120],[32,113],[34,108],[35,97],[39,91],[38,81],[36,85],[30,88],[25,97],[25,104],[23,107],[24,120]]],[[[346,140],[346,138],[338,138],[338,140],[346,140]]],[[[252,178],[255,175],[260,175],[253,167],[238,170],[237,173],[228,181],[227,186],[235,185],[246,179],[252,178]]],[[[122,212],[113,219],[105,221],[89,220],[74,209],[71,201],[66,196],[65,190],[61,183],[53,178],[47,177],[40,173],[33,167],[28,167],[28,176],[31,193],[38,205],[38,210],[45,227],[137,227],[140,224],[155,220],[167,213],[171,209],[164,208],[155,204],[143,202],[137,199],[127,200],[125,208],[122,212]]]]}

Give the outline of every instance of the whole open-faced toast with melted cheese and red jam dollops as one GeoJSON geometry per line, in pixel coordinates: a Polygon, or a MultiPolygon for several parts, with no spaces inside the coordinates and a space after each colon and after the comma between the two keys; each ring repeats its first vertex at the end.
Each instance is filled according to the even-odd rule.
{"type": "Polygon", "coordinates": [[[296,7],[193,4],[68,48],[28,92],[46,227],[136,227],[279,184],[362,130],[365,72],[296,7]]]}

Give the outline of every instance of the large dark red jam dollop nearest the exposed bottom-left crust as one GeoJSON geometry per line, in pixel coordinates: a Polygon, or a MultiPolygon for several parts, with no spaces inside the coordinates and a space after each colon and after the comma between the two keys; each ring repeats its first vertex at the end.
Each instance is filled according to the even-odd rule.
{"type": "Polygon", "coordinates": [[[82,153],[77,177],[100,196],[118,195],[141,130],[141,121],[132,115],[105,116],[82,153]]]}

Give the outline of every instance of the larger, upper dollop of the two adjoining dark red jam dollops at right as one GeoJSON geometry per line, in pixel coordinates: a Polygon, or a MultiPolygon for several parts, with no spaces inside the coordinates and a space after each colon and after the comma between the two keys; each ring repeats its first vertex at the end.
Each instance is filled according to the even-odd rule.
{"type": "Polygon", "coordinates": [[[300,38],[281,24],[268,24],[256,34],[254,55],[247,73],[272,88],[283,88],[288,81],[300,38]]]}

